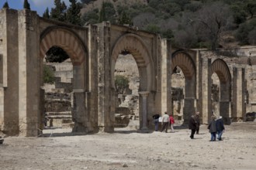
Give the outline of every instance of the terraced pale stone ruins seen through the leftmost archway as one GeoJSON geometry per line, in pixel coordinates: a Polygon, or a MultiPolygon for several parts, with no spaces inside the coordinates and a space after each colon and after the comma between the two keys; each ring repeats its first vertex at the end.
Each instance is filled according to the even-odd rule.
{"type": "Polygon", "coordinates": [[[44,107],[50,128],[72,128],[73,66],[71,59],[63,63],[45,63],[54,71],[54,84],[44,83],[44,107]]]}

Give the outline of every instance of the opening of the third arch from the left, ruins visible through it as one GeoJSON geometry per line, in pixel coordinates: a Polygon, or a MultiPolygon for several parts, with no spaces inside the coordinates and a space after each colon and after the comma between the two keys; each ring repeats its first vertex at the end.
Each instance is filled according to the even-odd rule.
{"type": "Polygon", "coordinates": [[[182,69],[176,66],[171,74],[171,112],[176,124],[183,124],[183,108],[185,97],[185,76],[182,69]]]}

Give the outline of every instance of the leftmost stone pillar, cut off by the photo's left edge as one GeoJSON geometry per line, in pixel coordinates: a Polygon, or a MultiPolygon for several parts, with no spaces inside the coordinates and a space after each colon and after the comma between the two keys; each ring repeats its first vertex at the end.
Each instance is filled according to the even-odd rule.
{"type": "Polygon", "coordinates": [[[19,134],[19,39],[18,12],[0,10],[1,53],[1,131],[9,136],[19,134]]]}

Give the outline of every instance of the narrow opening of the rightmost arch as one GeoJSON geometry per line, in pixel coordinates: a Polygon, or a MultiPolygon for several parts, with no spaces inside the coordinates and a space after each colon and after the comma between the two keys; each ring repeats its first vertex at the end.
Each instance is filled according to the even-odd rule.
{"type": "Polygon", "coordinates": [[[211,106],[212,114],[215,114],[217,117],[220,116],[220,78],[216,73],[213,73],[211,76],[212,87],[211,87],[211,106]]]}

